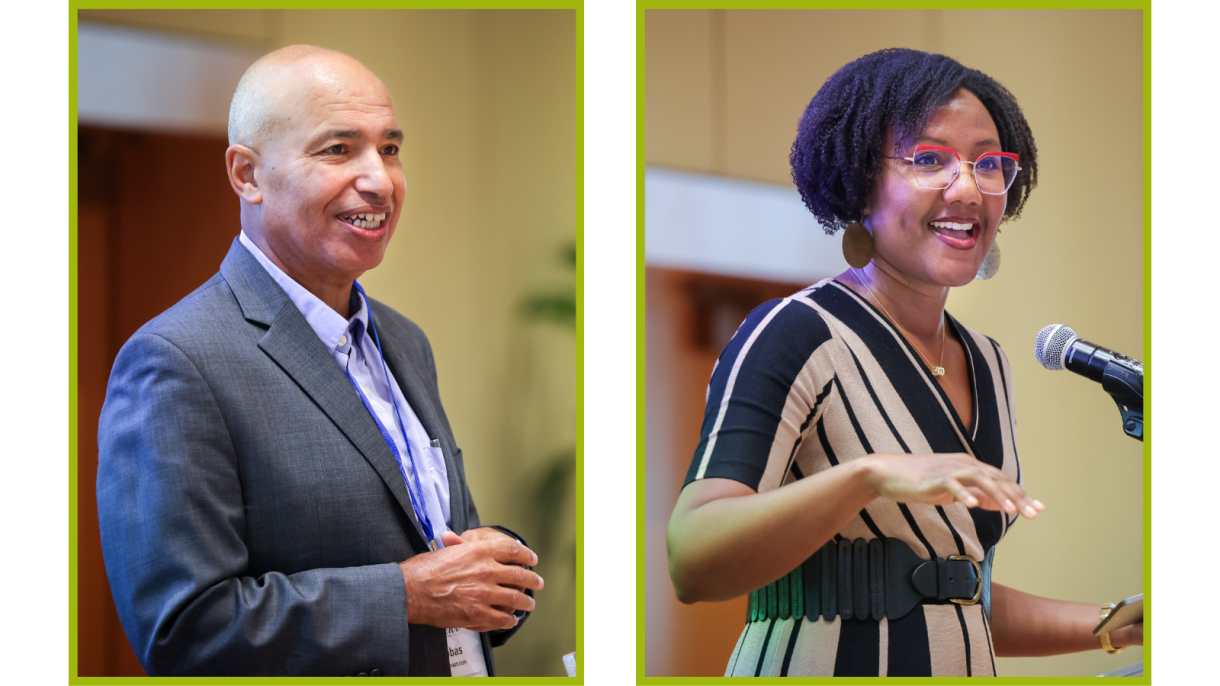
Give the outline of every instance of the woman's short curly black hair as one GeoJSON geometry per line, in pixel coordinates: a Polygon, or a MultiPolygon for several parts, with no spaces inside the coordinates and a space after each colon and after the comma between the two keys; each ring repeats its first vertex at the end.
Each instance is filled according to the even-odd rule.
{"type": "Polygon", "coordinates": [[[1038,150],[1016,98],[989,76],[953,57],[891,48],[844,65],[805,107],[792,144],[792,181],[805,206],[833,234],[859,221],[881,168],[886,127],[893,155],[924,132],[958,88],[974,93],[999,129],[1000,148],[1021,156],[1004,220],[1016,218],[1037,184],[1038,150]]]}

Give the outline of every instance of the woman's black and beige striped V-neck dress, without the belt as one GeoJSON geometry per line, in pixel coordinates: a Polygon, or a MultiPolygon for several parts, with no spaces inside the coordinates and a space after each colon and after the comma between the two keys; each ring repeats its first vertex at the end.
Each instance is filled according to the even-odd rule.
{"type": "MultiPolygon", "coordinates": [[[[1013,372],[999,344],[946,312],[966,352],[971,426],[880,310],[833,280],[755,309],[712,369],[686,483],[782,488],[870,453],[967,453],[1021,482],[1013,372]]],[[[981,560],[1016,515],[877,498],[836,541],[899,538],[920,558],[981,560]]],[[[810,551],[813,553],[813,551],[810,551]]],[[[747,623],[726,676],[993,676],[982,604],[925,601],[905,616],[747,623]]]]}

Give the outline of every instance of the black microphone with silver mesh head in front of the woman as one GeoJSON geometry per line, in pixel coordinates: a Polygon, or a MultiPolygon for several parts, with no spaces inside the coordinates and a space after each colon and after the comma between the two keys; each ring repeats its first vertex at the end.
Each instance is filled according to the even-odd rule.
{"type": "Polygon", "coordinates": [[[1061,323],[1043,327],[1033,339],[1038,364],[1066,369],[1097,381],[1122,414],[1122,431],[1143,441],[1143,363],[1085,341],[1061,323]]]}

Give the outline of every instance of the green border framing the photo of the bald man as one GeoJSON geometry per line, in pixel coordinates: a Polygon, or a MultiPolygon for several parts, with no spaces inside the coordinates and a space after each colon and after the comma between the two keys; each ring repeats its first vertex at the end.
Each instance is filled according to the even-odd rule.
{"type": "MultiPolygon", "coordinates": [[[[332,9],[337,2],[298,0],[264,2],[257,9],[332,9]]],[[[68,1],[68,682],[106,679],[110,684],[138,677],[77,676],[77,10],[83,9],[207,9],[249,10],[249,4],[165,2],[165,1],[68,1]]],[[[344,7],[355,9],[355,7],[344,7]]],[[[575,10],[576,11],[576,663],[577,677],[583,679],[584,660],[584,2],[577,0],[483,0],[470,2],[364,1],[359,9],[444,9],[444,10],[575,10]]],[[[556,653],[555,659],[560,659],[556,653]]],[[[173,677],[188,682],[185,677],[173,677]]],[[[254,682],[268,677],[231,677],[226,682],[254,682]]],[[[287,680],[289,677],[276,677],[287,680]]],[[[340,677],[323,677],[336,679],[340,677]]],[[[532,676],[503,677],[532,682],[532,676]]],[[[189,681],[198,682],[198,681],[189,681]]]]}

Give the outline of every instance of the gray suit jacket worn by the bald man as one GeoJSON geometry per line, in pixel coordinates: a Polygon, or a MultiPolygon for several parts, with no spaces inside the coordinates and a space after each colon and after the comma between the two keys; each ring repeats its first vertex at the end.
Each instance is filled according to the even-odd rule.
{"type": "MultiPolygon", "coordinates": [[[[390,374],[440,439],[453,530],[477,527],[428,339],[370,306],[390,374]]],[[[407,625],[396,563],[427,546],[394,457],[237,239],[120,350],[98,447],[106,574],[150,675],[449,675],[444,630],[407,625]]],[[[490,642],[511,631],[482,635],[492,674],[490,642]]]]}

